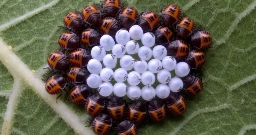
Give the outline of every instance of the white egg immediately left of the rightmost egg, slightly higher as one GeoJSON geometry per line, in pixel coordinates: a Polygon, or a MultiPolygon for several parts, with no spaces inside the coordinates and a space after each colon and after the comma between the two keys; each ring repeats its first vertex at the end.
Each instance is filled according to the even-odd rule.
{"type": "Polygon", "coordinates": [[[172,71],[173,69],[175,69],[176,64],[177,64],[176,59],[173,58],[172,56],[166,56],[162,60],[163,68],[168,71],[172,71]]]}

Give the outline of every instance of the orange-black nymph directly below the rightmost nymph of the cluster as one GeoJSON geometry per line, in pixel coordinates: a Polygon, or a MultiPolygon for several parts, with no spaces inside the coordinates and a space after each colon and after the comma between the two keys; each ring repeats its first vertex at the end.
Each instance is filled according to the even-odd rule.
{"type": "Polygon", "coordinates": [[[190,68],[200,68],[205,63],[205,60],[206,58],[202,51],[193,50],[193,51],[190,51],[185,62],[189,64],[190,68]]]}

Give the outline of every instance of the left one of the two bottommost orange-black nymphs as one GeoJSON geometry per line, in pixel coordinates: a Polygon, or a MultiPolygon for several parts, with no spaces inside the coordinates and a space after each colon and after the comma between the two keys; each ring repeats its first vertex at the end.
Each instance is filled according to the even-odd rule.
{"type": "Polygon", "coordinates": [[[112,120],[106,114],[100,114],[94,118],[92,125],[93,131],[97,135],[105,135],[110,131],[112,127],[112,120]]]}

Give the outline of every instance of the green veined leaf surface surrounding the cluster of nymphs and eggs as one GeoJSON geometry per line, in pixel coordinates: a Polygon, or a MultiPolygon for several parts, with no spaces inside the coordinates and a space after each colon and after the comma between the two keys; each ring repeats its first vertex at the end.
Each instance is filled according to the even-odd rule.
{"type": "MultiPolygon", "coordinates": [[[[164,5],[170,3],[179,5],[184,13],[182,16],[192,18],[197,27],[206,27],[212,35],[212,48],[207,51],[204,65],[206,70],[202,70],[206,83],[201,93],[188,99],[187,111],[183,116],[168,116],[160,123],[146,120],[139,125],[142,132],[139,134],[255,135],[256,1],[127,0],[125,6],[134,6],[139,12],[153,10],[159,13],[164,5]]],[[[58,49],[57,38],[65,31],[58,26],[63,25],[64,15],[70,11],[80,11],[88,4],[99,5],[100,0],[0,1],[0,39],[6,43],[0,42],[2,135],[5,135],[5,112],[9,107],[13,110],[7,116],[14,115],[10,121],[10,134],[70,135],[78,131],[67,122],[72,118],[62,118],[62,114],[56,112],[58,106],[49,102],[55,96],[44,96],[43,85],[35,82],[40,81],[38,76],[43,74],[41,69],[46,65],[48,54],[58,49]],[[13,49],[3,51],[6,46],[13,49]],[[37,75],[23,75],[30,73],[24,63],[37,75]],[[31,76],[36,77],[33,78],[35,81],[28,78],[31,76]]],[[[85,114],[83,106],[70,103],[64,96],[61,100],[79,118],[82,126],[88,125],[90,117],[85,114]]],[[[61,103],[59,105],[62,106],[61,103]]]]}

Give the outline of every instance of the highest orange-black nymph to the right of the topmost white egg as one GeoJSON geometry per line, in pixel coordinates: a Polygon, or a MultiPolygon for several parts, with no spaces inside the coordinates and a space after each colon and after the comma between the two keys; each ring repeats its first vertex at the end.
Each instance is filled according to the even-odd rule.
{"type": "Polygon", "coordinates": [[[175,24],[180,17],[180,7],[175,4],[169,4],[161,10],[161,22],[163,26],[169,27],[175,24]]]}

